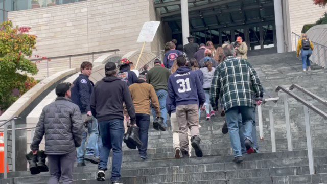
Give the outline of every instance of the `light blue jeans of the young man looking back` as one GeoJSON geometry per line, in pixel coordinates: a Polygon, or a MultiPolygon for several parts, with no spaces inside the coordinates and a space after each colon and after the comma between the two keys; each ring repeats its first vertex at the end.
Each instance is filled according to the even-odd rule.
{"type": "MultiPolygon", "coordinates": [[[[88,130],[88,141],[86,145],[86,155],[99,156],[98,151],[98,121],[96,118],[92,117],[92,123],[87,125],[88,130]]],[[[77,148],[77,162],[84,162],[84,153],[85,153],[85,143],[87,140],[87,132],[84,133],[84,137],[81,143],[81,146],[77,148]]]]}

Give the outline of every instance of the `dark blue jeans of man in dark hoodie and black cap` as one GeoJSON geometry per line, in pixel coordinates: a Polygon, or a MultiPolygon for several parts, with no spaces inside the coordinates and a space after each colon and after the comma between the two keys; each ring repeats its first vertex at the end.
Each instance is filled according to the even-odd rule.
{"type": "Polygon", "coordinates": [[[100,150],[100,163],[98,169],[107,170],[108,158],[112,149],[112,171],[111,181],[121,178],[121,167],[123,160],[122,143],[124,137],[124,120],[113,119],[99,122],[102,148],[100,150]]]}

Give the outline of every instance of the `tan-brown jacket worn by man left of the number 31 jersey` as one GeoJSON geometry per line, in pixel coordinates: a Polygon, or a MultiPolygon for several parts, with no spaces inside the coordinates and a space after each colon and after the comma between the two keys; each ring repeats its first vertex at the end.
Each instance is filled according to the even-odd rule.
{"type": "Polygon", "coordinates": [[[128,88],[134,103],[135,113],[151,115],[151,100],[151,103],[154,106],[157,116],[160,116],[161,113],[159,100],[151,84],[148,84],[146,82],[139,83],[138,81],[136,81],[136,83],[130,85],[128,88]]]}

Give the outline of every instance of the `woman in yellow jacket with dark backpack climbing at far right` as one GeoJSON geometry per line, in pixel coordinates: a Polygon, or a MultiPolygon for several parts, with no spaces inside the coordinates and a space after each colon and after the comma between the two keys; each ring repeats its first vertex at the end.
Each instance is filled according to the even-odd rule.
{"type": "Polygon", "coordinates": [[[300,51],[302,55],[302,64],[303,64],[303,72],[311,71],[311,63],[309,60],[309,57],[312,54],[313,50],[313,43],[309,41],[307,34],[302,34],[302,38],[298,40],[297,43],[297,55],[296,57],[299,57],[300,51]]]}

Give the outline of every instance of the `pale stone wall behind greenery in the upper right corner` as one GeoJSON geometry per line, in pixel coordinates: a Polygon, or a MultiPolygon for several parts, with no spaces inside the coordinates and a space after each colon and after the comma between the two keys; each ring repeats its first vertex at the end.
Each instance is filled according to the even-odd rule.
{"type": "MultiPolygon", "coordinates": [[[[312,0],[288,0],[288,2],[291,32],[299,35],[303,25],[316,22],[327,11],[326,8],[314,5],[312,0]]],[[[292,35],[292,50],[296,50],[294,35],[292,35]]]]}

